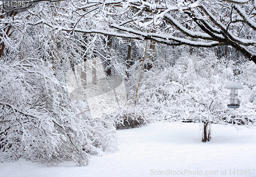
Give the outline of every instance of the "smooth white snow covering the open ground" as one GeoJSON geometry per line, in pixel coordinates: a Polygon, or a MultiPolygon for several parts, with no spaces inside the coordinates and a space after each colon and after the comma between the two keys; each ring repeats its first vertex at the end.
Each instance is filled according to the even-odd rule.
{"type": "Polygon", "coordinates": [[[20,159],[0,163],[0,176],[256,176],[256,129],[212,125],[211,141],[201,142],[198,123],[154,122],[120,130],[120,150],[90,164],[54,167],[20,159]]]}

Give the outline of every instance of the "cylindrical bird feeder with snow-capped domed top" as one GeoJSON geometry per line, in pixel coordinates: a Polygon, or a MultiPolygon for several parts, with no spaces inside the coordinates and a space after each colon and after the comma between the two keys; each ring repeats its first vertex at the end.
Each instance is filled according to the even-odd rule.
{"type": "Polygon", "coordinates": [[[233,109],[239,108],[240,105],[238,103],[238,89],[244,89],[242,84],[231,81],[227,82],[224,88],[230,89],[230,105],[227,105],[227,107],[233,109]]]}

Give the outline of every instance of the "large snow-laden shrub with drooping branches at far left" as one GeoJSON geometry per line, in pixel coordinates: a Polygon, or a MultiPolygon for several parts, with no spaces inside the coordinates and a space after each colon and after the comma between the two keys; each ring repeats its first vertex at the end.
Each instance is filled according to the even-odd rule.
{"type": "Polygon", "coordinates": [[[117,149],[114,123],[92,119],[83,101],[70,101],[49,63],[38,59],[0,64],[0,161],[48,165],[117,149]]]}

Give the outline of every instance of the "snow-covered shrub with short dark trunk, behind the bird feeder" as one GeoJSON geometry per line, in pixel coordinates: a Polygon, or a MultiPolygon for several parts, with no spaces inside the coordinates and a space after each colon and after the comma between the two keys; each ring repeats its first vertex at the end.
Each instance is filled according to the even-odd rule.
{"type": "Polygon", "coordinates": [[[253,89],[250,91],[246,86],[253,79],[246,79],[245,73],[234,75],[234,67],[232,61],[217,59],[210,51],[200,55],[184,53],[173,67],[144,75],[141,88],[148,94],[142,95],[138,103],[150,105],[162,120],[201,123],[204,142],[210,140],[211,123],[253,125],[255,104],[247,97],[253,89]],[[230,91],[224,86],[228,81],[245,86],[239,94],[240,109],[226,106],[230,91]]]}

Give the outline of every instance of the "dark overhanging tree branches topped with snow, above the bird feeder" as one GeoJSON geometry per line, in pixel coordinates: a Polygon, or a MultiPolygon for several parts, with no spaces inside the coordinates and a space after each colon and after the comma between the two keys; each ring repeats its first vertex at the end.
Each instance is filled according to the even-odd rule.
{"type": "MultiPolygon", "coordinates": [[[[230,45],[256,63],[254,1],[49,1],[30,23],[53,30],[102,34],[167,45],[230,45]]],[[[30,9],[32,10],[32,9],[30,9]]]]}

